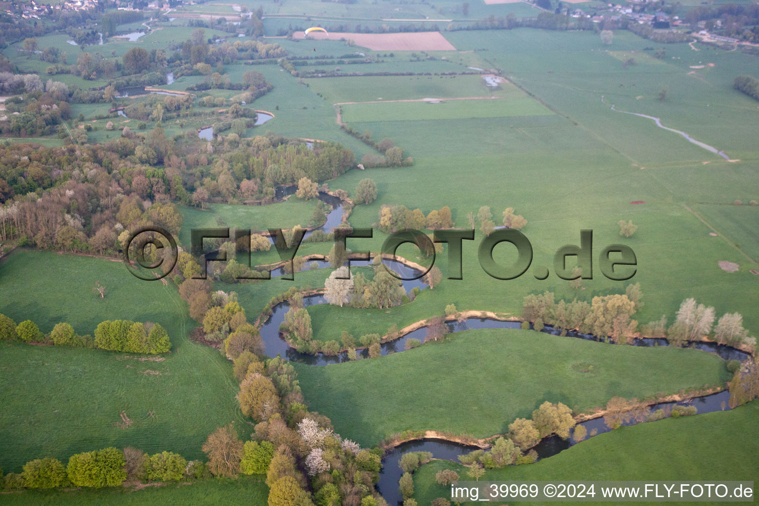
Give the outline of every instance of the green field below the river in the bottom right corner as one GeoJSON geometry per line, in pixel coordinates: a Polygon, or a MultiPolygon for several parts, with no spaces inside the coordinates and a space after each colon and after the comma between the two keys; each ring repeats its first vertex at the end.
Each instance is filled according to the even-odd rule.
{"type": "MultiPolygon", "coordinates": [[[[754,437],[728,435],[753,434],[757,416],[759,403],[754,401],[730,411],[622,427],[537,464],[487,470],[482,479],[750,480],[759,467],[759,443],[754,437]]],[[[435,482],[435,473],[442,469],[458,470],[465,479],[466,470],[461,464],[447,460],[425,464],[414,473],[414,498],[419,504],[450,497],[449,488],[435,482]]]]}

